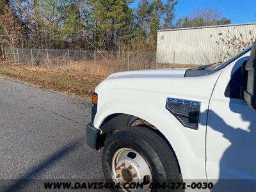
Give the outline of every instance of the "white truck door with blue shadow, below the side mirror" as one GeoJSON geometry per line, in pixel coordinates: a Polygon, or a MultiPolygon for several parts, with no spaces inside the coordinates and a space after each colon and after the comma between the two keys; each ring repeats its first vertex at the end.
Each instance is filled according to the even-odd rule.
{"type": "Polygon", "coordinates": [[[212,191],[256,191],[256,110],[241,97],[247,81],[242,63],[249,55],[250,51],[223,69],[212,93],[206,135],[212,191]]]}

